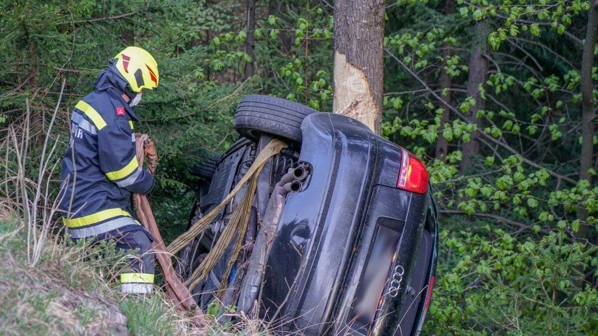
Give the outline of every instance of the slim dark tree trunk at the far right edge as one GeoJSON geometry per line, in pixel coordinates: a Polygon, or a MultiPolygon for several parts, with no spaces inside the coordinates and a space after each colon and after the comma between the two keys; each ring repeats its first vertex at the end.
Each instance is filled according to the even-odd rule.
{"type": "MultiPolygon", "coordinates": [[[[581,157],[579,160],[579,180],[591,182],[588,170],[592,167],[594,154],[594,84],[592,83],[592,67],[594,66],[594,47],[596,46],[596,32],[598,28],[598,1],[594,1],[588,11],[588,25],[585,30],[584,49],[581,56],[581,157]]],[[[584,221],[588,212],[579,207],[577,218],[584,221]]],[[[587,226],[579,225],[576,237],[585,238],[587,226]]]]}

